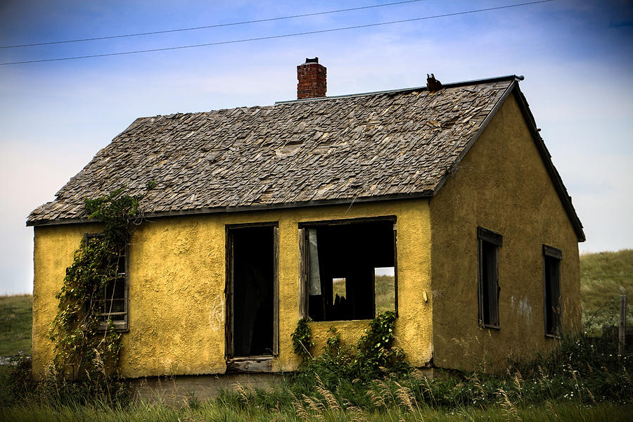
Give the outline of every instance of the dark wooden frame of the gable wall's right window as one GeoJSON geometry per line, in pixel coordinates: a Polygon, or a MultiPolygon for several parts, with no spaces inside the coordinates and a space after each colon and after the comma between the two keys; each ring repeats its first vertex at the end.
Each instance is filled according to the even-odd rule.
{"type": "MultiPolygon", "coordinates": [[[[563,251],[554,248],[553,246],[543,244],[543,322],[545,337],[549,338],[561,338],[561,321],[562,321],[562,300],[561,300],[561,261],[563,260],[563,251]],[[554,298],[551,296],[551,288],[548,285],[548,273],[549,264],[548,261],[555,260],[556,262],[556,288],[554,291],[557,293],[556,307],[548,306],[548,302],[551,302],[554,298]],[[549,300],[548,300],[549,298],[549,300]],[[558,309],[558,310],[556,310],[558,309]],[[550,314],[551,312],[551,314],[550,314]],[[553,319],[553,324],[550,324],[550,319],[553,319]],[[552,330],[549,330],[551,325],[552,330]]],[[[549,274],[549,281],[551,283],[551,273],[549,274]]]]}

